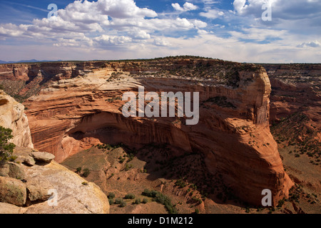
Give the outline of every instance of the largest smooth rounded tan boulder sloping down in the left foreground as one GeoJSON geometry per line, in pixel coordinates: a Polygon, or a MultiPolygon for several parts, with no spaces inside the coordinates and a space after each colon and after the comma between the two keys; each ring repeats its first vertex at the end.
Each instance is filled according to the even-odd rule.
{"type": "MultiPolygon", "coordinates": [[[[45,199],[49,192],[56,204],[37,202],[26,207],[26,214],[106,214],[109,213],[109,203],[106,195],[94,183],[86,182],[76,173],[52,161],[48,165],[35,165],[28,168],[27,188],[32,191],[32,199],[45,199]],[[47,182],[48,181],[48,182],[47,182]],[[43,189],[41,186],[43,185],[43,189]],[[51,187],[52,185],[52,187],[51,187]],[[46,187],[45,187],[46,186],[46,187]]],[[[51,199],[51,198],[50,198],[51,199]]]]}

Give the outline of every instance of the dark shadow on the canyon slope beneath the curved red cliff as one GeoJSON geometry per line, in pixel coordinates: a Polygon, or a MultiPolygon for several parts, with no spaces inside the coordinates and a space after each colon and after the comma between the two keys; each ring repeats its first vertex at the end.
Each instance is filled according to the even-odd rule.
{"type": "MultiPolygon", "coordinates": [[[[98,128],[91,132],[83,132],[79,126],[69,131],[69,136],[75,140],[96,138],[104,145],[122,147],[128,155],[134,155],[138,160],[146,162],[144,167],[148,174],[147,180],[153,182],[158,179],[173,180],[177,189],[197,190],[203,197],[212,199],[218,204],[233,204],[238,207],[248,207],[248,204],[233,195],[230,188],[224,184],[220,172],[214,175],[208,172],[205,157],[198,150],[185,151],[180,147],[170,145],[170,142],[155,142],[155,139],[144,143],[126,140],[133,137],[133,133],[126,132],[112,124],[98,128]]],[[[143,137],[143,136],[141,136],[143,137]]],[[[95,146],[95,145],[93,145],[95,146]]],[[[189,195],[187,192],[186,195],[189,195]]],[[[195,199],[188,198],[188,203],[195,203],[195,199]]]]}

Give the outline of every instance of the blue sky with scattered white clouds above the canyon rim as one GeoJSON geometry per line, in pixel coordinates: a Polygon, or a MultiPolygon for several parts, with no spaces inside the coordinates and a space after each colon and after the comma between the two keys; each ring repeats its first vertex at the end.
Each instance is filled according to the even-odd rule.
{"type": "Polygon", "coordinates": [[[2,61],[175,55],[321,61],[320,0],[1,0],[0,19],[2,61]],[[49,4],[58,6],[58,16],[48,19],[49,4]]]}

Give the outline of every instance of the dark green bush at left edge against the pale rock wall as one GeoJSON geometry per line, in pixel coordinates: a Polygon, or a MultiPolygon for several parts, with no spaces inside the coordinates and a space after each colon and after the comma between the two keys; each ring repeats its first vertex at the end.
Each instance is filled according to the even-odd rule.
{"type": "Polygon", "coordinates": [[[8,157],[14,152],[16,145],[9,142],[12,138],[14,138],[12,130],[0,126],[0,162],[8,160],[8,157]]]}

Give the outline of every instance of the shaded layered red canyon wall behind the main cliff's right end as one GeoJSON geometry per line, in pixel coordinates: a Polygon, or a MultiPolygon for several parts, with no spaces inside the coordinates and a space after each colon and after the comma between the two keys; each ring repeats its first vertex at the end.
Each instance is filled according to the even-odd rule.
{"type": "Polygon", "coordinates": [[[321,64],[263,64],[273,88],[270,123],[293,113],[307,115],[321,130],[321,64]]]}

